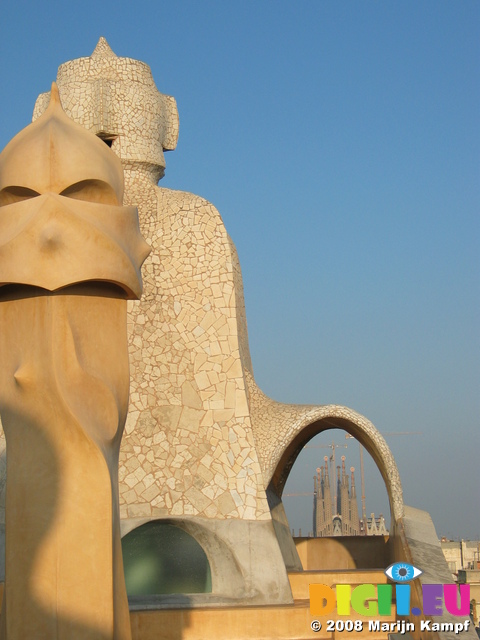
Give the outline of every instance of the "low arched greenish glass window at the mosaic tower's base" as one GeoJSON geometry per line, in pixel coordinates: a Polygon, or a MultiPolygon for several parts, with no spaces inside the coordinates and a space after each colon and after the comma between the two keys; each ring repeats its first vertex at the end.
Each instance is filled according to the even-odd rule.
{"type": "Polygon", "coordinates": [[[152,520],[122,538],[129,596],[211,593],[205,551],[180,527],[152,520]]]}

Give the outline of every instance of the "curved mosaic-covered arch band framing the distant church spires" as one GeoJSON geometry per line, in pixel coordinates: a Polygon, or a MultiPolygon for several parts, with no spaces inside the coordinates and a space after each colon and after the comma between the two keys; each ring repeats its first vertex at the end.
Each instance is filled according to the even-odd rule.
{"type": "Polygon", "coordinates": [[[306,407],[290,425],[288,437],[281,450],[270,460],[271,476],[268,485],[281,497],[285,482],[298,454],[307,442],[322,431],[343,429],[365,447],[374,459],[387,489],[392,518],[403,516],[403,492],[394,457],[384,437],[364,416],[340,405],[306,407]]]}

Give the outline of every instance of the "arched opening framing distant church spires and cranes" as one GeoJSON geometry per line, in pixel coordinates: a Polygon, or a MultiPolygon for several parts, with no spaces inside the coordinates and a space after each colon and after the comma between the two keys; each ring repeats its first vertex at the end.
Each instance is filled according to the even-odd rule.
{"type": "Polygon", "coordinates": [[[281,497],[304,570],[390,564],[387,487],[358,440],[327,428],[304,444],[287,473],[281,497]]]}

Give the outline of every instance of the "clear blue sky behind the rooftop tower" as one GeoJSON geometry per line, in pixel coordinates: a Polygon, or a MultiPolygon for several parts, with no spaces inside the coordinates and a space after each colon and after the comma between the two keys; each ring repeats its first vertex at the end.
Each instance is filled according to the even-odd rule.
{"type": "MultiPolygon", "coordinates": [[[[180,112],[161,185],[222,214],[260,387],[420,431],[387,438],[406,503],[480,538],[480,3],[7,0],[1,31],[0,148],[101,35],[151,66],[180,112]]],[[[311,498],[287,501],[310,530],[311,498]]]]}

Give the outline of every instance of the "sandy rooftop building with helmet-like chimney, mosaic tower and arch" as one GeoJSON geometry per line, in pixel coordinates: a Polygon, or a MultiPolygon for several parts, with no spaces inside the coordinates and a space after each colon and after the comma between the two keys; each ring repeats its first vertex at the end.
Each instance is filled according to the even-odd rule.
{"type": "Polygon", "coordinates": [[[150,68],[100,38],[0,154],[8,640],[331,638],[312,629],[312,582],[386,582],[404,561],[424,572],[417,606],[421,580],[449,581],[374,425],[257,386],[220,214],[157,186],[178,132],[150,68]],[[285,481],[333,428],[377,464],[389,536],[292,538],[285,481]]]}

